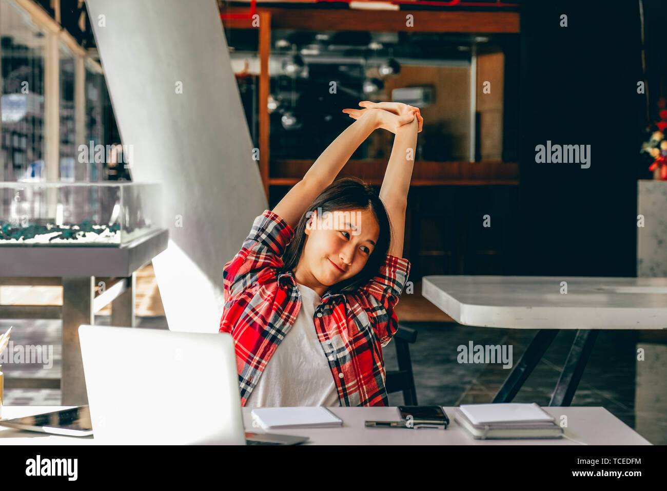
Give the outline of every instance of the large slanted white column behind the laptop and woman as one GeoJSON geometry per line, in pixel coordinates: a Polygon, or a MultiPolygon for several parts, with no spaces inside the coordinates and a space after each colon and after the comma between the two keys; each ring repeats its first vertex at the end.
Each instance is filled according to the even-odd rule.
{"type": "Polygon", "coordinates": [[[267,206],[217,4],[86,7],[132,178],[161,184],[169,248],[153,268],[169,328],[217,332],[222,266],[267,206]]]}

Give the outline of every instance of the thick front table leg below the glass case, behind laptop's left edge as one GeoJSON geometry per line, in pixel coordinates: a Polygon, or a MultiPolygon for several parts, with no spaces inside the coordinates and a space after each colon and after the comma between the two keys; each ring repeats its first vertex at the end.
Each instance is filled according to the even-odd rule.
{"type": "Polygon", "coordinates": [[[94,281],[92,276],[63,277],[63,374],[60,383],[62,405],[88,403],[79,344],[79,326],[94,323],[94,281]]]}

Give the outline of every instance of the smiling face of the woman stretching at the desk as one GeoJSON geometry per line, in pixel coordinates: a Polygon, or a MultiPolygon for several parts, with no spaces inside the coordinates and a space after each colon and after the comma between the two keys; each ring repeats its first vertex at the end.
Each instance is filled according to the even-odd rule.
{"type": "Polygon", "coordinates": [[[296,281],[323,295],[327,287],[354,277],[373,252],[380,226],[372,210],[313,211],[294,269],[296,281]]]}

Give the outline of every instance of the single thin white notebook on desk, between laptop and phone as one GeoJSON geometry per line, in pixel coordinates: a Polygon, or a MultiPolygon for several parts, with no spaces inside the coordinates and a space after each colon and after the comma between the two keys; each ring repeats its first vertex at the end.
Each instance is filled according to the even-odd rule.
{"type": "Polygon", "coordinates": [[[343,420],[326,407],[257,407],[251,414],[264,430],[282,428],[331,428],[342,426],[343,420]]]}

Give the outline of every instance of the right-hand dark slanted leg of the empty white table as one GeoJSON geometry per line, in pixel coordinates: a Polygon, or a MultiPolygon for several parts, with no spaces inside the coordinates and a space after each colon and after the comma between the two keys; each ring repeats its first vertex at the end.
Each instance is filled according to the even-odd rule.
{"type": "Polygon", "coordinates": [[[554,389],[549,405],[568,406],[572,403],[574,393],[576,392],[582,373],[593,350],[593,345],[598,337],[598,329],[580,329],[577,331],[574,342],[570,348],[570,353],[563,365],[563,371],[560,373],[560,379],[554,389]]]}

